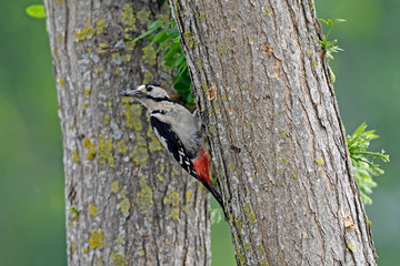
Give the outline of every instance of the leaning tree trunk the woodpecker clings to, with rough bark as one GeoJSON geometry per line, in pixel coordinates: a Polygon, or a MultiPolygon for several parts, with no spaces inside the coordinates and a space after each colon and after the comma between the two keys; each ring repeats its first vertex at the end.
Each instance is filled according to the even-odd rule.
{"type": "Polygon", "coordinates": [[[170,4],[238,265],[376,265],[313,2],[170,4]]]}

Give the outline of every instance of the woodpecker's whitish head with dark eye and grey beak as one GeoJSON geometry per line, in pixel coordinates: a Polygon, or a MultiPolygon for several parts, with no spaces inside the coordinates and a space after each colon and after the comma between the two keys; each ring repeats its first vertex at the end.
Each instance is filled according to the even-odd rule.
{"type": "Polygon", "coordinates": [[[130,96],[137,100],[151,99],[154,101],[163,101],[169,99],[167,91],[157,83],[148,83],[138,86],[136,90],[120,92],[121,96],[130,96]]]}

